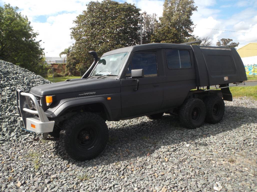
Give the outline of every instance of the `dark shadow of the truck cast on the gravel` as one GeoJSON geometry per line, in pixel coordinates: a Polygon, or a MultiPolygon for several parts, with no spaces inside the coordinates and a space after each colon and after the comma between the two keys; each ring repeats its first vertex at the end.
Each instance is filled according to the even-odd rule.
{"type": "Polygon", "coordinates": [[[70,159],[59,150],[58,141],[56,141],[55,151],[61,158],[77,166],[91,167],[119,161],[128,161],[129,164],[130,160],[149,156],[162,146],[170,146],[169,149],[166,148],[167,152],[176,151],[180,147],[177,144],[181,142],[191,141],[196,145],[206,146],[207,144],[196,140],[232,131],[247,123],[256,123],[256,119],[256,108],[240,106],[226,106],[223,120],[220,123],[205,123],[202,127],[194,130],[183,128],[178,117],[173,115],[164,115],[161,120],[144,118],[146,121],[132,123],[133,125],[130,126],[111,127],[109,142],[104,151],[95,159],[84,162],[70,159]]]}

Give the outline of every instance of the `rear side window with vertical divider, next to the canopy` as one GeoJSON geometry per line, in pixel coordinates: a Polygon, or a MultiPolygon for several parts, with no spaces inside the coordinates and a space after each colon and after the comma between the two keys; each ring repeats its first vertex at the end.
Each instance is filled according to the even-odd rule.
{"type": "Polygon", "coordinates": [[[166,49],[169,69],[191,68],[190,53],[186,50],[166,49]]]}

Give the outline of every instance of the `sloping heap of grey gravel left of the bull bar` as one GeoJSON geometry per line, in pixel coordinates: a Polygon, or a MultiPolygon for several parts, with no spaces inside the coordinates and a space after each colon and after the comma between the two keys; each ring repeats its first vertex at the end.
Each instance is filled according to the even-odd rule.
{"type": "Polygon", "coordinates": [[[34,72],[0,60],[0,142],[4,135],[13,138],[28,133],[17,130],[16,88],[29,92],[31,87],[47,83],[51,82],[34,72]]]}

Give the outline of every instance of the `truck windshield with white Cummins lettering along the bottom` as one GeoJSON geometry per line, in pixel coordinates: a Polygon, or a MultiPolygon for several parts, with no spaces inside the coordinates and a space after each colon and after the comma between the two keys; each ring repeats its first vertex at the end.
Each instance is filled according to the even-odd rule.
{"type": "Polygon", "coordinates": [[[117,76],[126,55],[127,52],[101,57],[90,76],[117,76]]]}

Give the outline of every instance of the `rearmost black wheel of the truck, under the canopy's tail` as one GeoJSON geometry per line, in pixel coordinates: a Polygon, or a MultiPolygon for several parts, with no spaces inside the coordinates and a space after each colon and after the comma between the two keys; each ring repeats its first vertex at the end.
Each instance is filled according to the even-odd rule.
{"type": "Polygon", "coordinates": [[[225,103],[224,100],[219,96],[210,96],[204,100],[206,106],[206,118],[207,123],[218,123],[222,120],[225,103]]]}

